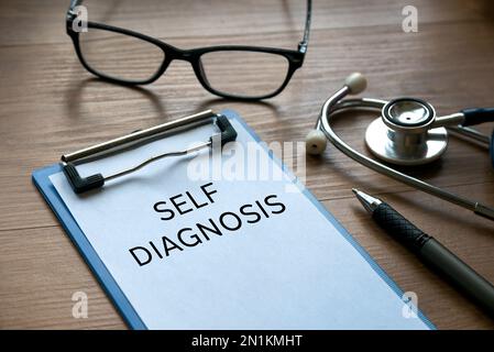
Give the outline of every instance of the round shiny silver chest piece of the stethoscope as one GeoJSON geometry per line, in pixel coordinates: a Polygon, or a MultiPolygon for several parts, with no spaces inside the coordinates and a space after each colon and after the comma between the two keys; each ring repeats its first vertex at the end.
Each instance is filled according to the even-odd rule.
{"type": "Polygon", "coordinates": [[[439,158],[448,146],[444,128],[433,128],[436,111],[416,98],[384,105],[381,117],[365,132],[365,144],[376,157],[396,165],[421,165],[439,158]]]}

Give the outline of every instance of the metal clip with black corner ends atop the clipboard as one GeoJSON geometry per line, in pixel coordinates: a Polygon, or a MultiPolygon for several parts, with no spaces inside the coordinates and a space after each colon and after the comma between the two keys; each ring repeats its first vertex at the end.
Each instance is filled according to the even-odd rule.
{"type": "Polygon", "coordinates": [[[116,172],[108,176],[103,176],[102,174],[95,174],[87,177],[81,177],[77,172],[76,166],[84,164],[85,162],[88,162],[94,157],[98,158],[98,156],[101,157],[105,154],[125,148],[125,146],[130,147],[132,145],[145,143],[146,141],[150,141],[152,139],[156,139],[160,136],[164,138],[164,134],[166,134],[167,132],[179,132],[180,130],[187,130],[194,127],[206,124],[209,121],[212,121],[212,123],[215,123],[221,132],[219,136],[221,146],[237,139],[237,131],[233,129],[233,127],[224,116],[215,113],[211,110],[207,110],[146,130],[140,130],[134,133],[127,134],[94,146],[89,146],[74,153],[62,155],[62,167],[64,174],[76,194],[83,194],[91,189],[101,188],[105,183],[110,179],[134,173],[146,166],[147,164],[151,164],[164,157],[186,155],[187,153],[193,153],[202,148],[211,147],[213,138],[216,138],[216,135],[209,138],[209,141],[196,146],[182,151],[166,152],[154,155],[138,165],[116,172]]]}

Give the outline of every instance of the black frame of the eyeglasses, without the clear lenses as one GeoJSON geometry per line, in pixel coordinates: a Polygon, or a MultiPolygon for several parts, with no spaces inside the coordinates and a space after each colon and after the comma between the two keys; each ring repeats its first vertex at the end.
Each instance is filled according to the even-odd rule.
{"type": "Polygon", "coordinates": [[[98,30],[103,30],[103,31],[109,31],[109,32],[114,32],[114,33],[133,36],[133,37],[143,40],[143,41],[146,41],[149,43],[152,43],[152,44],[158,46],[163,51],[163,53],[164,53],[163,63],[152,77],[150,77],[149,79],[145,79],[145,80],[120,79],[118,77],[105,75],[103,73],[100,73],[97,69],[94,69],[84,58],[84,55],[80,50],[80,44],[79,44],[80,32],[74,31],[74,29],[73,29],[73,23],[77,19],[77,13],[75,12],[75,7],[77,7],[81,3],[83,3],[83,0],[72,0],[70,7],[67,12],[67,16],[66,16],[67,34],[70,36],[70,38],[74,43],[74,47],[75,47],[77,57],[79,58],[83,66],[89,73],[94,74],[95,76],[97,76],[101,79],[105,79],[105,80],[108,80],[111,82],[116,82],[116,84],[120,84],[120,85],[135,86],[135,85],[151,84],[151,82],[155,81],[156,79],[158,79],[165,73],[165,70],[168,68],[169,64],[174,59],[179,59],[179,61],[186,61],[186,62],[190,63],[190,65],[193,66],[194,73],[196,74],[196,77],[199,80],[199,82],[202,85],[202,87],[216,96],[219,96],[222,98],[228,98],[228,99],[237,99],[237,100],[268,99],[268,98],[272,98],[272,97],[281,94],[285,89],[285,87],[288,85],[294,73],[299,67],[303,66],[305,54],[307,52],[307,46],[309,43],[311,7],[312,7],[311,0],[307,0],[307,14],[306,14],[305,29],[304,29],[304,37],[298,43],[298,47],[296,51],[264,47],[264,46],[249,46],[249,45],[219,45],[219,46],[207,46],[207,47],[199,47],[199,48],[191,48],[191,50],[180,50],[178,47],[175,47],[173,45],[169,45],[165,42],[162,42],[157,38],[154,38],[152,36],[145,35],[145,34],[141,34],[141,33],[138,33],[138,32],[134,32],[131,30],[125,30],[125,29],[121,29],[121,28],[117,28],[117,26],[112,26],[112,25],[108,25],[108,24],[103,24],[103,23],[88,21],[87,22],[88,29],[98,29],[98,30]],[[281,55],[288,61],[288,69],[287,69],[287,75],[285,77],[285,80],[283,81],[283,84],[279,86],[278,89],[276,89],[275,91],[273,91],[271,94],[262,95],[262,96],[239,96],[239,95],[230,95],[228,92],[216,90],[208,82],[206,74],[202,69],[202,64],[201,64],[200,57],[207,53],[223,52],[223,51],[257,52],[257,53],[281,55]]]}

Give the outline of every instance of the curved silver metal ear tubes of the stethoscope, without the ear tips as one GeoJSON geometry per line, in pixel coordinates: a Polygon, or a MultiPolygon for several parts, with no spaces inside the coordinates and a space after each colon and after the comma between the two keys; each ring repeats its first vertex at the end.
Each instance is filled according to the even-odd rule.
{"type": "Polygon", "coordinates": [[[322,106],[322,110],[320,117],[318,119],[317,129],[320,129],[327,139],[343,154],[356,161],[358,163],[377,172],[389,176],[398,182],[407,184],[417,189],[424,190],[430,195],[439,197],[449,202],[455,204],[460,207],[474,211],[476,215],[483,216],[491,220],[494,220],[494,209],[481,205],[479,202],[472,201],[470,199],[457,196],[452,193],[449,193],[442,188],[436,187],[428,183],[425,183],[415,177],[405,175],[396,169],[393,169],[380,162],[376,162],[359,152],[353,150],[350,145],[344,143],[332,130],[331,128],[331,117],[337,113],[344,112],[349,109],[360,109],[360,110],[380,110],[386,101],[378,99],[345,99],[341,100],[345,95],[348,95],[349,88],[343,87],[339,91],[337,91],[332,97],[330,97],[326,103],[322,106]]]}

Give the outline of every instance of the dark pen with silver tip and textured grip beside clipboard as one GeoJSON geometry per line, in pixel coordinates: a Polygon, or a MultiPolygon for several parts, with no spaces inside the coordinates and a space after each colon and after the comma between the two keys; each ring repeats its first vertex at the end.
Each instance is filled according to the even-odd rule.
{"type": "Polygon", "coordinates": [[[374,221],[494,317],[494,286],[384,201],[352,189],[374,221]]]}

